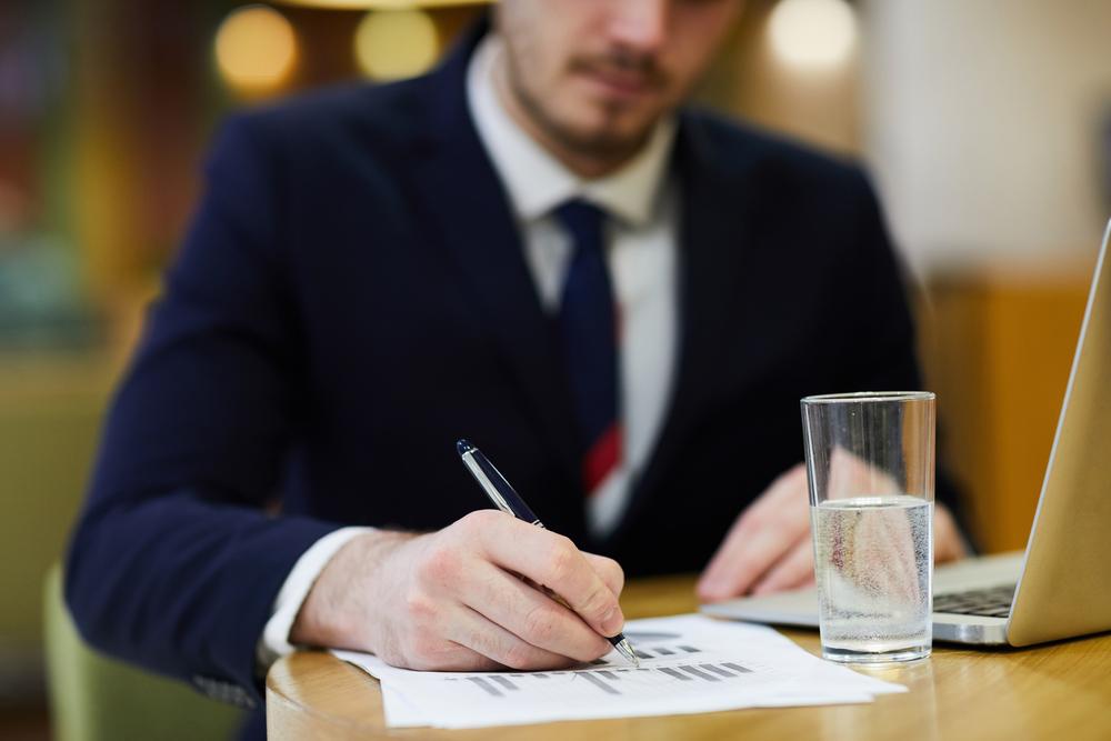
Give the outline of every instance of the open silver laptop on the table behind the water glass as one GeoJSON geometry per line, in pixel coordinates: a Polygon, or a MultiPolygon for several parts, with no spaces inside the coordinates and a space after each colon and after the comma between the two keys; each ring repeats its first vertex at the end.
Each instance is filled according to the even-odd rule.
{"type": "MultiPolygon", "coordinates": [[[[933,638],[1031,645],[1111,630],[1111,222],[1025,551],[934,570],[933,638]]],[[[704,604],[705,614],[818,627],[818,591],[704,604]]]]}

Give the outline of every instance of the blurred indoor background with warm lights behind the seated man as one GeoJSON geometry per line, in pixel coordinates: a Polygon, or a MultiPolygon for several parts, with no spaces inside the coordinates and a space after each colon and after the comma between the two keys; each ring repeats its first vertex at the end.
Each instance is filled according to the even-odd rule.
{"type": "MultiPolygon", "coordinates": [[[[43,578],[213,128],[418,74],[482,11],[0,3],[0,737],[50,738],[43,578]]],[[[868,166],[985,551],[1025,543],[1111,216],[1109,31],[1103,0],[749,0],[698,92],[868,166]]]]}

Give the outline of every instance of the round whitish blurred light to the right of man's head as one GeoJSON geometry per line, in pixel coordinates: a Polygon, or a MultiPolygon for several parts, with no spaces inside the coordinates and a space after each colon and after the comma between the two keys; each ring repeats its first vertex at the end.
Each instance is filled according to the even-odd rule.
{"type": "Polygon", "coordinates": [[[857,18],[844,0],[782,0],[768,31],[788,64],[830,69],[847,62],[857,42],[857,18]]]}

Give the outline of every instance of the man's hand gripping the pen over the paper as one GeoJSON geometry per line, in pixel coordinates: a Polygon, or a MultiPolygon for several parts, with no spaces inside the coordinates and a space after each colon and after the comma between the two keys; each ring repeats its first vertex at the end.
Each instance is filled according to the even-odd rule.
{"type": "Polygon", "coordinates": [[[324,567],[290,640],[409,669],[561,668],[610,651],[602,635],[624,624],[623,582],[615,561],[481,510],[430,534],[354,538],[324,567]]]}

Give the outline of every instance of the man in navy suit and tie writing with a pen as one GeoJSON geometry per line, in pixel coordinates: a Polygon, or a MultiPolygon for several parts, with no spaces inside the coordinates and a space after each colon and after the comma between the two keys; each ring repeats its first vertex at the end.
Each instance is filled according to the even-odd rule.
{"type": "Polygon", "coordinates": [[[503,0],[429,77],[232,120],[74,534],[89,640],[251,702],[291,644],[593,659],[621,567],[811,579],[799,398],[920,381],[863,177],[679,109],[739,9],[503,0]],[[550,531],[473,512],[461,437],[550,531]]]}

